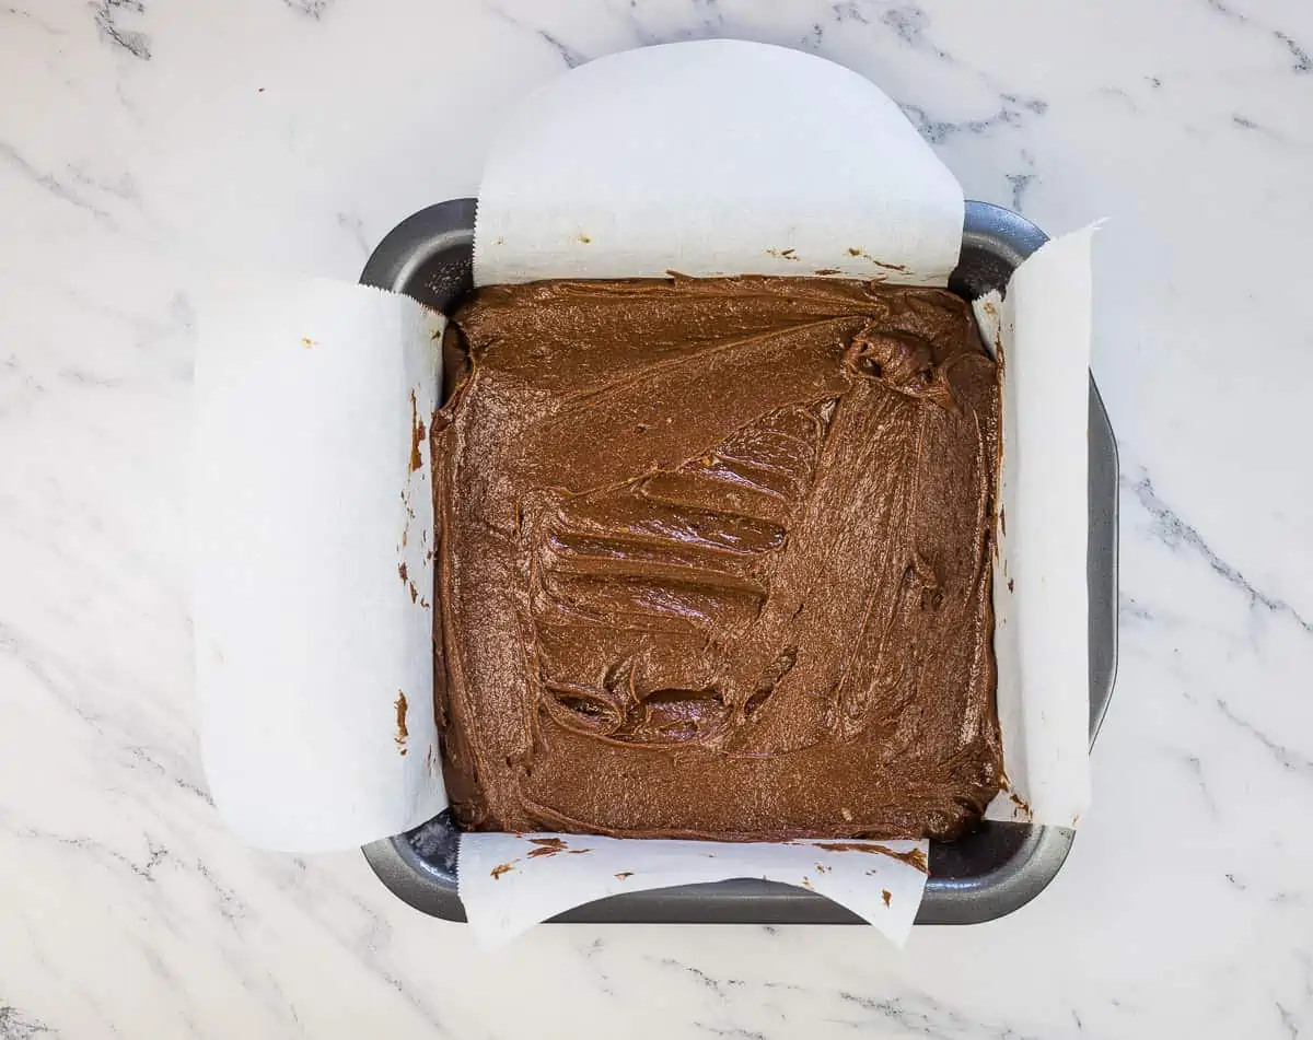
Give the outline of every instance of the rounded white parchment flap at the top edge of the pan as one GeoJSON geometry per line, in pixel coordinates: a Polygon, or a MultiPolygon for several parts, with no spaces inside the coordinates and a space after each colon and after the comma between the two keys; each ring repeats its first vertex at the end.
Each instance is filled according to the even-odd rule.
{"type": "Polygon", "coordinates": [[[962,189],[878,87],[709,39],[590,62],[530,95],[483,165],[477,285],[834,274],[944,285],[962,189]]]}

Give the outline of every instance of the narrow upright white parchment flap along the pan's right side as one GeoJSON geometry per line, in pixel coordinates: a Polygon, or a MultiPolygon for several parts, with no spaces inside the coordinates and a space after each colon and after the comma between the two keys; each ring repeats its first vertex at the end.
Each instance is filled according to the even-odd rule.
{"type": "Polygon", "coordinates": [[[990,819],[1075,827],[1090,804],[1090,327],[1094,226],[976,301],[1003,358],[994,653],[1008,789],[990,819]]]}

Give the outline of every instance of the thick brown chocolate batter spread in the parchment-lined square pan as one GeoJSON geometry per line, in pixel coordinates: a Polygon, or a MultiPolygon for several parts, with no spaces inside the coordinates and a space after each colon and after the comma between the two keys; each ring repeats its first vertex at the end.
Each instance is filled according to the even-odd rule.
{"type": "Polygon", "coordinates": [[[945,838],[998,791],[998,368],[934,289],[474,293],[433,431],[462,825],[945,838]]]}

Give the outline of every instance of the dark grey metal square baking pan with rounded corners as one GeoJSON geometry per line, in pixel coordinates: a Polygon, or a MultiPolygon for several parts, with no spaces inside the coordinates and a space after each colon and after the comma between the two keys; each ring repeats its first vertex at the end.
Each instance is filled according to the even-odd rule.
{"type": "MultiPolygon", "coordinates": [[[[406,293],[437,310],[473,288],[475,200],[420,210],[378,244],[360,280],[406,293]]],[[[949,289],[974,298],[1002,289],[1046,236],[1023,217],[986,202],[966,204],[962,253],[949,289]]],[[[1117,446],[1099,390],[1090,379],[1090,741],[1112,695],[1117,666],[1117,446]]],[[[1053,880],[1074,831],[983,822],[956,842],[932,842],[930,880],[918,924],[974,924],[1029,902],[1053,880]]],[[[457,896],[460,831],[448,813],[407,834],[365,846],[365,859],[397,896],[418,910],[465,921],[457,896]]],[[[635,892],[576,906],[553,921],[744,924],[855,924],[838,903],[790,885],[760,880],[635,892]]]]}

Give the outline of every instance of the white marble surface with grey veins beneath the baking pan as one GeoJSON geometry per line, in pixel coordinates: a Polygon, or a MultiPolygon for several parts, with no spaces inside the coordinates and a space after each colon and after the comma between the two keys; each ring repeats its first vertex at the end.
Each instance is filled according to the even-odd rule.
{"type": "Polygon", "coordinates": [[[1305,0],[0,0],[0,1040],[1313,1035],[1305,0]],[[181,482],[197,249],[353,278],[607,51],[737,35],[903,104],[968,196],[1107,215],[1121,668],[1010,918],[540,928],[498,956],[202,789],[181,482]]]}

